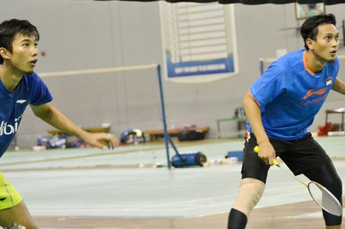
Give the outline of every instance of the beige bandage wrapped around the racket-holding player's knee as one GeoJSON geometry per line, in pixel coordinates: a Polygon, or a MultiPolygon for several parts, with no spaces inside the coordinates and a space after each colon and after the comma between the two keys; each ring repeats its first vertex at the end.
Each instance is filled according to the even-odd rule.
{"type": "Polygon", "coordinates": [[[248,218],[251,210],[259,202],[265,190],[265,183],[254,178],[244,178],[241,181],[239,195],[233,208],[241,211],[248,218]]]}

